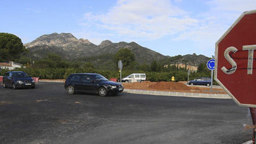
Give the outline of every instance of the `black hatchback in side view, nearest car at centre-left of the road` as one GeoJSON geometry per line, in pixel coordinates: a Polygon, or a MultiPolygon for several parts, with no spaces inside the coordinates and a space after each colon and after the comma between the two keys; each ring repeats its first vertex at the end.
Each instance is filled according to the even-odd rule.
{"type": "Polygon", "coordinates": [[[109,93],[121,93],[124,90],[122,84],[109,81],[102,75],[94,73],[70,74],[64,86],[67,93],[71,95],[77,91],[82,91],[98,93],[99,96],[106,97],[109,93]]]}

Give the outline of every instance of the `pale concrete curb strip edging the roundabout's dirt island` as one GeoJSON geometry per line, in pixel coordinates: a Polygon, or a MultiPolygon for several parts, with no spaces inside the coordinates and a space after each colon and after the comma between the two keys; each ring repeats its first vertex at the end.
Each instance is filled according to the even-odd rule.
{"type": "Polygon", "coordinates": [[[199,97],[199,98],[231,99],[231,97],[227,94],[181,93],[181,92],[133,90],[133,89],[124,89],[124,92],[135,93],[135,94],[145,94],[145,95],[175,96],[175,97],[199,97]]]}

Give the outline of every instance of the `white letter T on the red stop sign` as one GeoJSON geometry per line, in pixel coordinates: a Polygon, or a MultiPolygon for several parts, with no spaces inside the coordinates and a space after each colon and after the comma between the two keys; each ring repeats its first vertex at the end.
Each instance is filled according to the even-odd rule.
{"type": "Polygon", "coordinates": [[[256,45],[244,45],[243,50],[248,50],[248,66],[247,74],[253,74],[253,50],[256,49],[256,45]]]}

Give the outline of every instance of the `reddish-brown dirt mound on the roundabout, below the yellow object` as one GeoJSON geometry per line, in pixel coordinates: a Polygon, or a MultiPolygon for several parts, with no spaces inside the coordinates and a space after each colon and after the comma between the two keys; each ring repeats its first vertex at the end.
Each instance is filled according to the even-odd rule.
{"type": "Polygon", "coordinates": [[[154,83],[148,88],[156,89],[156,90],[190,90],[188,86],[184,85],[183,83],[175,83],[175,82],[165,82],[161,81],[159,83],[154,83]]]}

